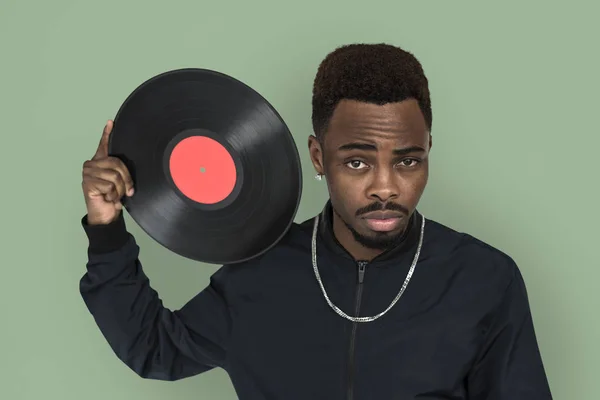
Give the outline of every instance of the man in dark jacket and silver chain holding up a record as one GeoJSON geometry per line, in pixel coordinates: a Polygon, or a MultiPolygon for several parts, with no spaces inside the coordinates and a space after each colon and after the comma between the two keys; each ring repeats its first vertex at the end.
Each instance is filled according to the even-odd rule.
{"type": "Polygon", "coordinates": [[[241,399],[551,399],[515,262],[417,211],[430,104],[400,48],[329,54],[308,144],[330,201],[176,311],[126,230],[120,199],[135,188],[107,155],[109,122],[83,169],[81,294],[116,355],[150,379],[223,368],[241,399]]]}

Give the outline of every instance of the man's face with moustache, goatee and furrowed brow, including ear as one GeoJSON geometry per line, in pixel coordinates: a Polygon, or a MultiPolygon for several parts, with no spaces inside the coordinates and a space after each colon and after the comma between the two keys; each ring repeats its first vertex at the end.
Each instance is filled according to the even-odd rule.
{"type": "MultiPolygon", "coordinates": [[[[371,249],[404,232],[428,179],[431,136],[418,103],[339,103],[323,145],[309,140],[315,169],[327,179],[334,225],[371,249]]],[[[344,232],[341,232],[342,236],[344,232]]]]}

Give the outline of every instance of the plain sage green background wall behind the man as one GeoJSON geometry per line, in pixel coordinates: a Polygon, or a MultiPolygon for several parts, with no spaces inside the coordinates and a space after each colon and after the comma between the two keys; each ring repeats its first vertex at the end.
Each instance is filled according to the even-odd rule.
{"type": "MultiPolygon", "coordinates": [[[[598,399],[598,6],[480,1],[0,1],[0,398],[235,399],[220,370],[144,381],[111,352],[78,292],[81,165],[140,83],[205,67],[263,94],[296,138],[297,220],[326,199],[307,152],[318,63],[389,42],[431,83],[429,218],[511,254],[526,279],[556,399],[598,399]]],[[[127,216],[171,308],[216,266],[173,255],[127,216]]]]}

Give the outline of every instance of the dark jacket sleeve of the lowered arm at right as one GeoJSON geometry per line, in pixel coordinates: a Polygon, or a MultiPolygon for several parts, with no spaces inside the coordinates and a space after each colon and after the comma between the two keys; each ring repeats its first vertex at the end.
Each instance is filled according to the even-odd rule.
{"type": "Polygon", "coordinates": [[[469,400],[551,400],[523,277],[514,276],[491,317],[467,378],[469,400]]]}

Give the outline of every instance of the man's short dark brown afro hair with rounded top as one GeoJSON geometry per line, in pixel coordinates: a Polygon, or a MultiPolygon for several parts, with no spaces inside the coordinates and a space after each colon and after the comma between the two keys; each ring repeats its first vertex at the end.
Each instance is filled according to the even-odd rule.
{"type": "Polygon", "coordinates": [[[321,62],[313,85],[312,124],[322,138],[340,100],[374,104],[417,100],[431,130],[427,77],[411,53],[390,44],[349,44],[321,62]]]}

